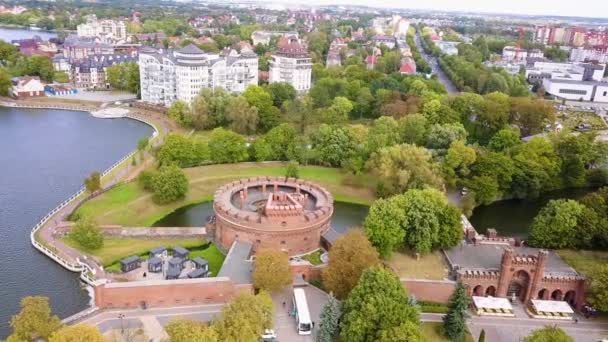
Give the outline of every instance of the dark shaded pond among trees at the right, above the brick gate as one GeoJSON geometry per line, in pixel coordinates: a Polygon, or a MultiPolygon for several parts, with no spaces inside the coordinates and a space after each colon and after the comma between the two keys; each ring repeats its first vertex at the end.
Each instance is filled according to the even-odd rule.
{"type": "Polygon", "coordinates": [[[526,238],[538,212],[553,199],[578,199],[597,188],[574,188],[542,194],[535,200],[504,200],[475,208],[469,219],[477,232],[495,228],[498,235],[526,238]]]}

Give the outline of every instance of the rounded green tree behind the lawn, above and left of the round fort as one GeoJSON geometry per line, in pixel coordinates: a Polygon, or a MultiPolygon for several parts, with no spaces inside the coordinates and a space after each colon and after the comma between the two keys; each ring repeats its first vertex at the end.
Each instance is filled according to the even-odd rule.
{"type": "Polygon", "coordinates": [[[247,160],[245,138],[238,133],[216,128],[209,138],[209,153],[216,163],[237,163],[247,160]]]}

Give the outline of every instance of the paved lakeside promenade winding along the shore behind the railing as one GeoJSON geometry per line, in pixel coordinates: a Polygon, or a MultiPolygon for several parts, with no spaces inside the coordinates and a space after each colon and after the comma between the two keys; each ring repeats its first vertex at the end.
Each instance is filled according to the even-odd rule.
{"type": "MultiPolygon", "coordinates": [[[[159,146],[160,144],[162,144],[163,138],[174,127],[165,117],[163,117],[163,114],[158,114],[158,113],[145,114],[142,112],[135,112],[135,113],[130,113],[130,116],[136,116],[136,117],[140,117],[142,119],[151,120],[155,124],[160,126],[160,127],[157,126],[158,136],[152,142],[151,147],[156,147],[156,146],[159,146]]],[[[148,151],[145,151],[144,152],[144,162],[140,163],[142,165],[140,165],[139,167],[133,167],[133,166],[131,166],[130,161],[128,161],[128,160],[125,161],[127,163],[126,166],[120,167],[120,169],[117,172],[115,172],[114,174],[111,174],[111,177],[109,180],[102,179],[103,189],[104,190],[109,189],[109,188],[113,187],[114,185],[119,184],[120,182],[125,181],[125,180],[128,181],[128,180],[135,179],[135,177],[137,177],[137,175],[144,169],[144,166],[152,164],[152,162],[153,162],[152,159],[153,159],[153,156],[148,151]]],[[[39,234],[39,237],[46,242],[47,246],[51,246],[51,248],[54,249],[55,251],[57,251],[62,258],[66,259],[66,261],[68,263],[77,265],[79,261],[83,262],[90,267],[90,269],[92,270],[92,273],[95,275],[95,278],[102,279],[102,278],[105,278],[105,272],[103,271],[103,269],[99,266],[99,264],[95,260],[91,260],[91,258],[89,256],[87,256],[85,253],[68,246],[63,241],[55,239],[55,235],[56,235],[57,231],[60,230],[60,227],[64,227],[66,225],[65,221],[67,221],[69,215],[74,211],[75,208],[77,208],[80,204],[82,204],[83,202],[85,202],[88,199],[89,199],[89,196],[81,195],[81,197],[79,197],[76,200],[69,203],[67,206],[65,206],[64,208],[59,210],[57,213],[55,213],[55,215],[53,217],[51,217],[46,222],[46,224],[44,224],[40,228],[40,230],[38,231],[38,234],[39,234]]]]}

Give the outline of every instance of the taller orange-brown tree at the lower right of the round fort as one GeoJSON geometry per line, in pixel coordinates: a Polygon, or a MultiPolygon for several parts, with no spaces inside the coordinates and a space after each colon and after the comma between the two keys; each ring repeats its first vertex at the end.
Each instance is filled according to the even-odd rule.
{"type": "Polygon", "coordinates": [[[329,264],[321,271],[323,286],[338,299],[355,287],[363,271],[378,265],[378,252],[360,230],[349,230],[329,251],[329,264]]]}

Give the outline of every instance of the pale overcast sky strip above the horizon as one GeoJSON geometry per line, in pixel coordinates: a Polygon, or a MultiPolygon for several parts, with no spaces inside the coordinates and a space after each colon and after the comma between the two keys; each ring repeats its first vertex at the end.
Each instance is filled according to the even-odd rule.
{"type": "MultiPolygon", "coordinates": [[[[285,0],[288,1],[288,0],[285,0]]],[[[608,18],[608,0],[312,0],[319,4],[608,18]]]]}

